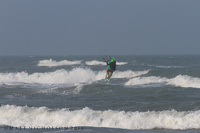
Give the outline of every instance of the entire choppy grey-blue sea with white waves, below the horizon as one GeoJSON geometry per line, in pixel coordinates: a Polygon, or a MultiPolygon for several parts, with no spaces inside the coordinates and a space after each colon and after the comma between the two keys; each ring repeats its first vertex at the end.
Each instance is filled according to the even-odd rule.
{"type": "Polygon", "coordinates": [[[200,56],[0,57],[0,132],[200,132],[200,56]]]}

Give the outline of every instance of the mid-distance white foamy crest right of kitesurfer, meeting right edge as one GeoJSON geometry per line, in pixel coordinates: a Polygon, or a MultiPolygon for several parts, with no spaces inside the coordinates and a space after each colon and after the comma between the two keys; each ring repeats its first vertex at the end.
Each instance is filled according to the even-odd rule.
{"type": "Polygon", "coordinates": [[[184,88],[200,88],[200,78],[190,77],[187,75],[178,75],[175,78],[164,78],[164,77],[136,77],[132,78],[125,83],[126,86],[141,86],[151,87],[157,85],[173,85],[184,88]]]}

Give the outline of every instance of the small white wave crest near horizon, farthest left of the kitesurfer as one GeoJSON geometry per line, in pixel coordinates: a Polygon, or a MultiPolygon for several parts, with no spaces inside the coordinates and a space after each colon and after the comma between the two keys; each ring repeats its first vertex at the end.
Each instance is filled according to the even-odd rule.
{"type": "Polygon", "coordinates": [[[68,60],[55,61],[49,59],[49,60],[39,61],[38,66],[56,67],[56,66],[77,65],[77,64],[81,64],[81,61],[68,61],[68,60]]]}

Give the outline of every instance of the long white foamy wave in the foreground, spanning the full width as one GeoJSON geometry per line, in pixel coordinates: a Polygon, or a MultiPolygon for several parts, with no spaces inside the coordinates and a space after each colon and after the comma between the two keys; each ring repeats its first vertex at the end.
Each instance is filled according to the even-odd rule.
{"type": "Polygon", "coordinates": [[[14,127],[111,127],[123,129],[199,129],[200,111],[95,111],[90,108],[70,111],[47,107],[4,105],[0,125],[14,127]]]}

